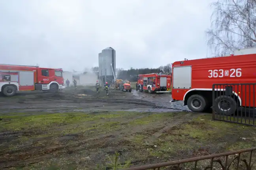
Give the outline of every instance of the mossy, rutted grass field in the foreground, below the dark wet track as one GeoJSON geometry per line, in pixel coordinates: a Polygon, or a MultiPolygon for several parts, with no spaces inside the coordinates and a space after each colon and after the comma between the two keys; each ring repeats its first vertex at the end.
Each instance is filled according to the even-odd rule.
{"type": "Polygon", "coordinates": [[[0,168],[88,169],[120,153],[134,165],[256,146],[256,129],[193,113],[0,115],[0,168]],[[58,168],[56,168],[58,167],[58,168]]]}

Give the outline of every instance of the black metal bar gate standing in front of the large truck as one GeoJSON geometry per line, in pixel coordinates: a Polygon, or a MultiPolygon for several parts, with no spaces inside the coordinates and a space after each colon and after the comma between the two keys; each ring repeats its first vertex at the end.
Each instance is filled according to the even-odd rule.
{"type": "Polygon", "coordinates": [[[256,83],[213,84],[213,119],[256,125],[256,83]]]}

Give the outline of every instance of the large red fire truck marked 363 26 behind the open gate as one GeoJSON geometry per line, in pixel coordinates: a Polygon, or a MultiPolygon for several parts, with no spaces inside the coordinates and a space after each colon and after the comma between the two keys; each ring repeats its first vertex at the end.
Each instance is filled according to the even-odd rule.
{"type": "Polygon", "coordinates": [[[214,101],[214,105],[217,106],[215,109],[223,113],[220,102],[223,100],[223,92],[226,90],[220,89],[220,87],[215,89],[216,87],[213,87],[213,85],[236,84],[236,87],[230,92],[232,97],[225,99],[227,103],[230,103],[226,108],[228,112],[226,115],[232,114],[230,111],[235,112],[238,106],[256,106],[256,100],[254,100],[255,92],[252,90],[254,85],[239,84],[256,83],[256,52],[251,54],[247,51],[247,54],[244,55],[245,52],[246,50],[244,49],[241,50],[241,53],[236,51],[234,52],[235,55],[225,57],[174,62],[172,64],[173,101],[184,100],[184,105],[188,105],[188,108],[193,112],[203,112],[209,109],[214,101]],[[215,98],[213,96],[213,88],[215,93],[223,91],[222,96],[215,98]],[[249,91],[249,89],[251,90],[249,91]],[[243,94],[240,94],[242,91],[243,94]]]}

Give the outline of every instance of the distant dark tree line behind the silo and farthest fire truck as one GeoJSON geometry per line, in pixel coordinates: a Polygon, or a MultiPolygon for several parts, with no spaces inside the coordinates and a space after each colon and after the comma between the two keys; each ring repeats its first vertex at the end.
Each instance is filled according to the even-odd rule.
{"type": "MultiPolygon", "coordinates": [[[[97,72],[99,67],[92,67],[92,71],[97,72]]],[[[139,74],[150,74],[150,73],[166,73],[171,74],[171,64],[166,66],[160,66],[158,68],[130,68],[125,70],[123,68],[116,69],[117,79],[124,79],[129,81],[137,81],[139,74]]]]}

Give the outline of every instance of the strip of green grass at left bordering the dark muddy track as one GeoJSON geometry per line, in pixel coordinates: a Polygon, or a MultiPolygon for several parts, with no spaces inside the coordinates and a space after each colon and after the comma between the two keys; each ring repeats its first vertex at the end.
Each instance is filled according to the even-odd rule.
{"type": "MultiPolygon", "coordinates": [[[[73,112],[73,113],[37,113],[27,115],[27,113],[8,113],[3,115],[0,121],[0,131],[19,131],[24,129],[47,129],[49,127],[68,125],[72,126],[75,124],[83,124],[85,122],[95,122],[99,120],[108,120],[111,118],[124,117],[131,113],[120,111],[111,113],[84,113],[84,112],[73,112]]],[[[97,123],[94,123],[95,125],[97,123]]],[[[98,123],[99,124],[99,123],[98,123]]],[[[110,124],[105,122],[105,124],[110,124]]]]}

